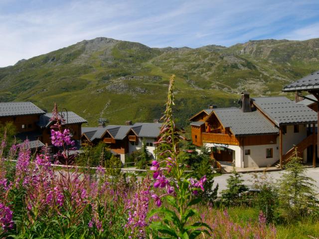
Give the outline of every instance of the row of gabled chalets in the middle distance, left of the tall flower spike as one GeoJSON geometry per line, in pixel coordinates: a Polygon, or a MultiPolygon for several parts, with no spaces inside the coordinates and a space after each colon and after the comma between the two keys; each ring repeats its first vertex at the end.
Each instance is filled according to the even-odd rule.
{"type": "Polygon", "coordinates": [[[155,157],[155,144],[160,134],[160,123],[135,123],[133,125],[107,125],[100,127],[82,127],[82,145],[94,145],[102,141],[109,145],[111,151],[125,158],[139,150],[143,142],[155,157]]]}

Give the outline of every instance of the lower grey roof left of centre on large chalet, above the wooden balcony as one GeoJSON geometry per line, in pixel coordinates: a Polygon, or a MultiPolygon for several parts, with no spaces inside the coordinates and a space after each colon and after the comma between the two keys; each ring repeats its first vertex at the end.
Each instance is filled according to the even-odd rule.
{"type": "Polygon", "coordinates": [[[220,108],[214,109],[214,113],[225,127],[230,127],[235,136],[279,132],[279,129],[258,111],[243,113],[239,108],[220,108]]]}

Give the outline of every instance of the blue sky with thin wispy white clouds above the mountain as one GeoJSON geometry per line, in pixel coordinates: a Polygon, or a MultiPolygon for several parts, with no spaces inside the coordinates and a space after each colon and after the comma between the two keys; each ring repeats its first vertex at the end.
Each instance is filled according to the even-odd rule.
{"type": "Polygon", "coordinates": [[[319,37],[319,0],[0,0],[0,67],[84,39],[150,47],[319,37]]]}

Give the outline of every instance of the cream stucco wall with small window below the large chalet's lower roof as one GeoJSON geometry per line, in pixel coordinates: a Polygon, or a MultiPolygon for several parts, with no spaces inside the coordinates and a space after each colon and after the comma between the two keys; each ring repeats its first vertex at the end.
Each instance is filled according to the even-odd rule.
{"type": "Polygon", "coordinates": [[[244,167],[267,167],[279,160],[279,147],[277,144],[263,144],[244,146],[244,150],[250,149],[250,155],[244,155],[244,167]],[[266,149],[273,149],[273,157],[266,158],[266,149]]]}

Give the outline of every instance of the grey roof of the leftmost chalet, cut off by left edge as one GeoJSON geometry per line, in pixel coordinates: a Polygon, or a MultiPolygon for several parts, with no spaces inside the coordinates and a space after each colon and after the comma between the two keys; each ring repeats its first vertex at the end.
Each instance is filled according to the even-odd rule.
{"type": "Polygon", "coordinates": [[[2,102],[0,103],[0,117],[44,115],[45,112],[31,102],[2,102]]]}

